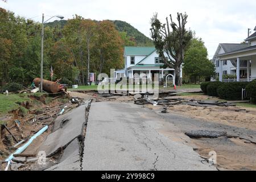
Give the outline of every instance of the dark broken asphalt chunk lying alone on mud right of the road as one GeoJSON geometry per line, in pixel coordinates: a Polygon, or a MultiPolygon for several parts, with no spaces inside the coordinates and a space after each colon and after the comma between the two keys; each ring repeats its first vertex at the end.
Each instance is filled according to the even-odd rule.
{"type": "Polygon", "coordinates": [[[208,131],[208,130],[197,130],[185,133],[190,138],[218,138],[225,137],[226,131],[208,131]]]}

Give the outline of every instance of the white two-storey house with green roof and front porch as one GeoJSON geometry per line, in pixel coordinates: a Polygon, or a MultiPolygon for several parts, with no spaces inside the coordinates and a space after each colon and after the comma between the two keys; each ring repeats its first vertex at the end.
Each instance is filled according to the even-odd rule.
{"type": "Polygon", "coordinates": [[[141,78],[154,78],[155,73],[159,73],[159,78],[175,74],[175,70],[172,68],[162,68],[164,64],[156,53],[155,47],[125,47],[123,57],[125,68],[115,72],[116,80],[120,76],[133,78],[135,74],[141,78]]]}

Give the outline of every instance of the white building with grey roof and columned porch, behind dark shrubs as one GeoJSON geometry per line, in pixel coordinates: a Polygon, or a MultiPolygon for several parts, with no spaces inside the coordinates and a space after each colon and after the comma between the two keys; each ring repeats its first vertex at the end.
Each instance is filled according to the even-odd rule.
{"type": "Polygon", "coordinates": [[[256,32],[245,40],[245,44],[218,45],[212,61],[219,81],[251,81],[256,78],[256,32]],[[236,75],[236,78],[224,79],[224,75],[236,75]]]}

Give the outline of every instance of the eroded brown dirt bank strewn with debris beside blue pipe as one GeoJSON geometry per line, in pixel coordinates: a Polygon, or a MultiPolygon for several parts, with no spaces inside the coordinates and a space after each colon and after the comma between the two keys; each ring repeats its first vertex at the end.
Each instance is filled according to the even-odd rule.
{"type": "MultiPolygon", "coordinates": [[[[30,101],[20,103],[21,108],[16,109],[6,114],[1,120],[6,122],[7,128],[18,141],[27,141],[32,135],[42,129],[44,126],[53,124],[55,114],[59,113],[63,104],[67,103],[67,97],[60,96],[58,98],[48,97],[47,95],[28,96],[30,101]],[[18,126],[15,123],[18,121],[18,126]]],[[[48,130],[50,131],[50,130],[48,130]]],[[[47,136],[43,134],[33,144],[39,145],[47,136]]],[[[0,161],[6,159],[12,152],[16,150],[13,147],[17,142],[14,137],[2,126],[0,135],[0,161]]]]}

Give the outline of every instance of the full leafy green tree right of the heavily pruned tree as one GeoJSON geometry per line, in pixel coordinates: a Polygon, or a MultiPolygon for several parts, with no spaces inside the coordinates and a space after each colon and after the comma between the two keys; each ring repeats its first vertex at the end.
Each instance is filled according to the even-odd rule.
{"type": "Polygon", "coordinates": [[[215,66],[208,58],[207,48],[201,39],[193,38],[184,57],[184,73],[192,77],[194,82],[200,78],[215,75],[215,66]]]}

